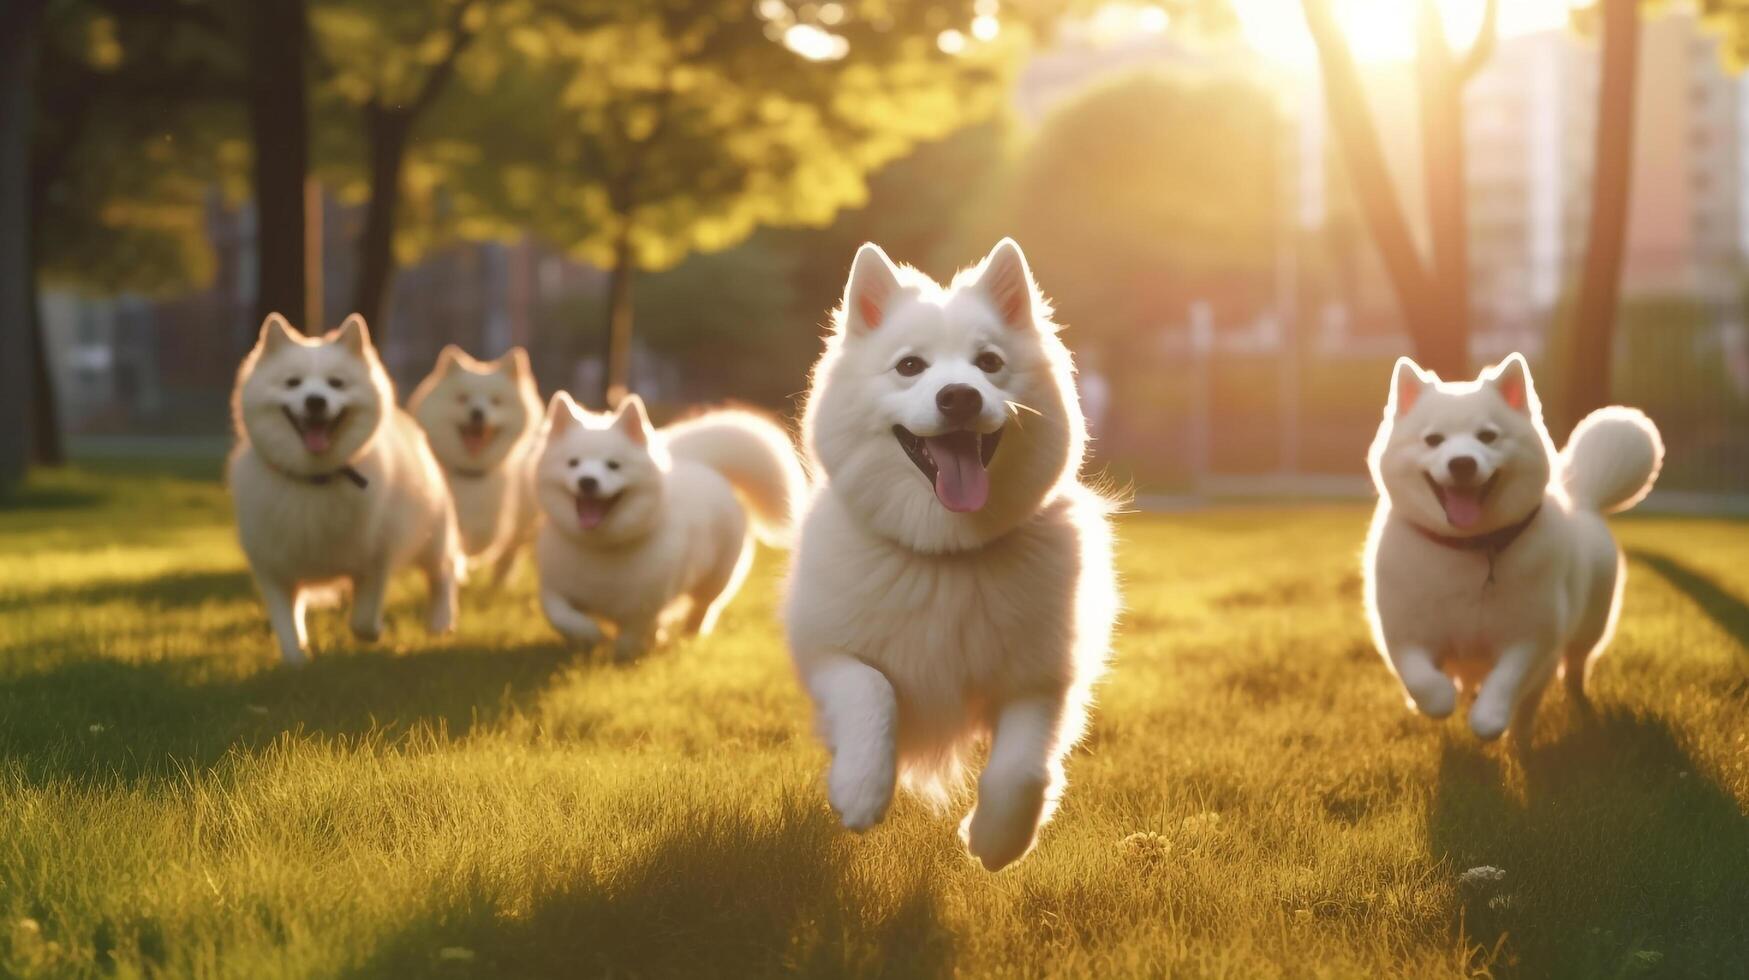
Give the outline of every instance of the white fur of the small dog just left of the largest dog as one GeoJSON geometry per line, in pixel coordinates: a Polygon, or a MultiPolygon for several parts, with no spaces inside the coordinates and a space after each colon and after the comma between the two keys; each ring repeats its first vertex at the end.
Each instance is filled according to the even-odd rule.
{"type": "Polygon", "coordinates": [[[540,607],[577,646],[602,642],[600,623],[612,623],[617,660],[672,625],[708,634],[752,565],[752,532],[787,542],[805,486],[794,443],[750,411],[656,430],[638,396],[589,415],[558,392],[535,464],[540,607]],[[582,481],[612,500],[593,527],[579,520],[582,481]]]}

